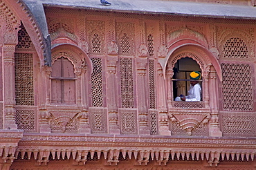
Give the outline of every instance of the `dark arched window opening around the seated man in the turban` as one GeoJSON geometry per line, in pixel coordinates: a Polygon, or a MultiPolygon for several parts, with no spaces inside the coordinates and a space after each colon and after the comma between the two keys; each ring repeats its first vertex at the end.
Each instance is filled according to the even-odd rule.
{"type": "MultiPolygon", "coordinates": [[[[190,79],[190,73],[192,73],[193,71],[198,71],[199,73],[201,73],[201,69],[199,64],[197,64],[197,62],[190,58],[190,57],[184,57],[179,59],[176,64],[174,65],[174,75],[172,77],[172,82],[173,82],[173,94],[174,94],[174,100],[176,101],[180,101],[179,99],[177,99],[176,97],[184,95],[184,96],[188,96],[189,95],[189,91],[191,88],[191,84],[192,81],[194,82],[194,80],[190,79]]],[[[202,79],[196,80],[196,84],[199,84],[200,88],[202,86],[202,79]]],[[[197,100],[187,100],[186,101],[190,101],[190,102],[197,102],[202,100],[202,95],[200,97],[201,99],[197,100]]]]}

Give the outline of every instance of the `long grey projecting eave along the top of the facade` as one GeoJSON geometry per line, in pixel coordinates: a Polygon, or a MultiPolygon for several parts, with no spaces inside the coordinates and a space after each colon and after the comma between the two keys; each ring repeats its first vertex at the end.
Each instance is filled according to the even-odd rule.
{"type": "Polygon", "coordinates": [[[111,6],[102,6],[100,0],[39,0],[44,6],[80,8],[113,12],[214,17],[228,19],[256,19],[256,7],[228,4],[195,3],[158,0],[109,0],[111,6]]]}

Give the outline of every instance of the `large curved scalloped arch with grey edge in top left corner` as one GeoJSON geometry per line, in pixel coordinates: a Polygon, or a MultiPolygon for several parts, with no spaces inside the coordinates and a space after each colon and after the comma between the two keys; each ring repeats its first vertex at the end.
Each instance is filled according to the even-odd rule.
{"type": "Polygon", "coordinates": [[[37,6],[37,13],[44,17],[44,8],[39,1],[24,2],[23,0],[0,0],[0,8],[6,13],[6,22],[9,30],[18,31],[20,21],[24,23],[28,35],[31,38],[37,51],[41,66],[51,66],[51,41],[48,35],[48,30],[45,22],[42,19],[39,24],[37,16],[30,10],[29,5],[33,3],[37,6]],[[37,4],[35,4],[37,3],[37,4]]]}

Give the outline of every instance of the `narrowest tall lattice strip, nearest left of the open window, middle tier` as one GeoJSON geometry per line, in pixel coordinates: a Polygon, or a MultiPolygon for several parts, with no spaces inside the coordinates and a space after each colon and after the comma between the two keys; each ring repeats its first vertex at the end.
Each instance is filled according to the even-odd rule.
{"type": "Polygon", "coordinates": [[[149,108],[156,108],[155,62],[149,59],[149,108]]]}

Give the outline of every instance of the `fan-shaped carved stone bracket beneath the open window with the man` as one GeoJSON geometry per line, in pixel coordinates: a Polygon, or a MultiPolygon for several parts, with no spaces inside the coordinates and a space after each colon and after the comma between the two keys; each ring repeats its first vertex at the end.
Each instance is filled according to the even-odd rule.
{"type": "Polygon", "coordinates": [[[192,135],[192,131],[201,124],[207,124],[210,120],[209,113],[169,113],[172,122],[177,122],[179,126],[192,135]]]}

